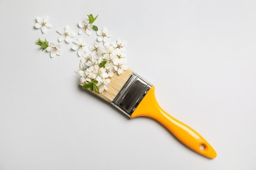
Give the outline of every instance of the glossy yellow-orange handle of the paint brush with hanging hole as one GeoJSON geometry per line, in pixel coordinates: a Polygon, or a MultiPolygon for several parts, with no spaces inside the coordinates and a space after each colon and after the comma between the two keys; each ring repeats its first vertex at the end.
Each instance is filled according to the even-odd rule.
{"type": "Polygon", "coordinates": [[[169,129],[177,139],[199,154],[202,154],[207,158],[215,158],[217,156],[213,147],[211,147],[211,145],[207,143],[199,133],[161,109],[156,101],[154,86],[152,86],[142,99],[135,112],[131,115],[131,118],[138,116],[147,116],[158,120],[158,122],[167,127],[167,129],[169,129]]]}

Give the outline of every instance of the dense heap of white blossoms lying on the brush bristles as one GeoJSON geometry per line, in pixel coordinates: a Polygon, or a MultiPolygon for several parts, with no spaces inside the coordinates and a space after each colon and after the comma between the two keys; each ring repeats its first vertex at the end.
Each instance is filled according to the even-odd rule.
{"type": "Polygon", "coordinates": [[[96,80],[99,93],[108,90],[108,84],[115,73],[121,75],[127,69],[125,44],[125,41],[117,39],[112,44],[95,42],[88,46],[82,53],[77,71],[80,85],[84,86],[96,80]]]}

